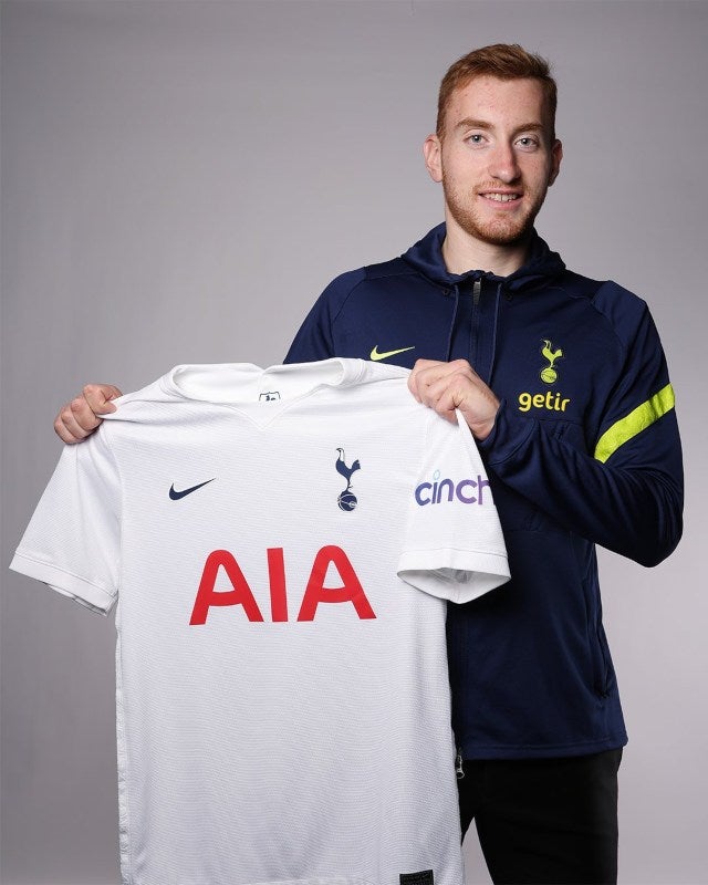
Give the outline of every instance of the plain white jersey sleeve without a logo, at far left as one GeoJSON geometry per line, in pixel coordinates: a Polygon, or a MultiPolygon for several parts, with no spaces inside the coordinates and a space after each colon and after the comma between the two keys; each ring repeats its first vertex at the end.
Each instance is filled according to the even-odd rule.
{"type": "Polygon", "coordinates": [[[103,428],[66,446],[10,569],[101,614],[119,577],[121,482],[103,428]]]}

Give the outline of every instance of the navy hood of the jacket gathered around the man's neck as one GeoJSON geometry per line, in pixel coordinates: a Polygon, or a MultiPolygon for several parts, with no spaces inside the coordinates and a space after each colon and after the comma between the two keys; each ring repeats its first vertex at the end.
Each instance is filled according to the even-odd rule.
{"type": "Polygon", "coordinates": [[[527,262],[509,277],[497,277],[493,273],[480,270],[469,270],[462,274],[450,273],[442,260],[445,235],[446,226],[442,222],[433,228],[402,256],[403,260],[415,268],[418,273],[444,287],[455,287],[456,283],[462,280],[483,277],[485,279],[503,283],[504,289],[508,291],[519,292],[522,289],[532,287],[540,280],[548,281],[549,278],[558,277],[565,270],[565,263],[558,252],[552,252],[534,229],[527,262]]]}

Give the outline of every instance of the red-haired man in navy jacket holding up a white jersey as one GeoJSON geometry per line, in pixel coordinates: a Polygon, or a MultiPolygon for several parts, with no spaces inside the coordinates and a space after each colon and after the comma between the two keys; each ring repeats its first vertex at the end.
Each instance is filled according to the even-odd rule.
{"type": "MultiPolygon", "coordinates": [[[[456,62],[428,173],[445,223],[334,280],[287,361],[413,366],[417,399],[461,410],[487,464],[512,580],[448,613],[462,831],[496,883],[611,883],[626,733],[595,544],[654,565],[678,543],[674,394],[646,304],[569,271],[533,222],[555,180],[556,88],[518,45],[456,62]]],[[[88,386],[55,421],[77,441],[114,408],[88,386]]]]}

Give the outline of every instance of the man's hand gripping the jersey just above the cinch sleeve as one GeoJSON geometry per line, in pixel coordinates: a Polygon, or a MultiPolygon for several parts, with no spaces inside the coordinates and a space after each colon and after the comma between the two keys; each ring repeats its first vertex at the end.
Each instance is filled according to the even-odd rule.
{"type": "Polygon", "coordinates": [[[455,409],[459,409],[475,439],[487,439],[494,426],[499,399],[466,360],[418,360],[408,387],[418,403],[450,421],[456,420],[455,409]]]}

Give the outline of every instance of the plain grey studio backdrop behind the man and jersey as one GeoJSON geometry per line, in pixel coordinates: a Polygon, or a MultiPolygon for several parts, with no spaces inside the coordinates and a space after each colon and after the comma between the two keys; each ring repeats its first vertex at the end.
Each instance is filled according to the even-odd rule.
{"type": "MultiPolygon", "coordinates": [[[[642,294],[678,397],[686,532],[603,553],[629,746],[622,883],[708,882],[705,839],[706,2],[4,0],[2,883],[116,883],[112,618],[7,570],[87,381],[278,363],[335,274],[441,220],[420,146],[468,50],[521,42],[560,84],[538,227],[642,294]]],[[[487,883],[476,837],[468,883],[487,883]]]]}

